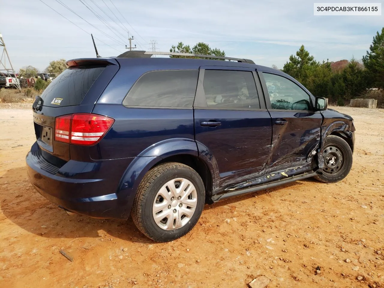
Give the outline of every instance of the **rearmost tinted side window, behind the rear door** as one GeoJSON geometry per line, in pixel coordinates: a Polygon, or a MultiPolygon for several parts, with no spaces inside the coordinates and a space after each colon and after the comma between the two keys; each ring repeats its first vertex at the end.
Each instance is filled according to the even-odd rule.
{"type": "Polygon", "coordinates": [[[192,107],[198,70],[151,71],[139,78],[123,101],[125,106],[192,107]]]}

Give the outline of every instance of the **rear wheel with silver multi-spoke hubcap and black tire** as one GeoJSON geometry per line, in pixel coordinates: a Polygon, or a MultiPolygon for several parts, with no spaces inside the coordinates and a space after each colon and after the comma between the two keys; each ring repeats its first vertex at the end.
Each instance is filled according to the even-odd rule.
{"type": "Polygon", "coordinates": [[[204,202],[205,188],[200,175],[184,164],[167,162],[144,175],[131,216],[148,238],[169,242],[187,234],[196,225],[204,202]]]}

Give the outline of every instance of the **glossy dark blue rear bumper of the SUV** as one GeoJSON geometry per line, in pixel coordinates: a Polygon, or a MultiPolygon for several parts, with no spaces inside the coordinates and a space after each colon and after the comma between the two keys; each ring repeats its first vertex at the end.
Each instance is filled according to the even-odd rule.
{"type": "Polygon", "coordinates": [[[28,178],[56,205],[94,218],[127,219],[129,197],[119,197],[119,182],[133,158],[98,162],[68,161],[57,167],[41,156],[35,143],[26,156],[28,178]]]}

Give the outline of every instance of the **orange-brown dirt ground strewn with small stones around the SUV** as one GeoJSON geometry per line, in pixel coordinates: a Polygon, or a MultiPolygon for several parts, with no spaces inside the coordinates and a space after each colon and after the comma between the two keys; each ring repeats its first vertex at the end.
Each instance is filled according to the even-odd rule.
{"type": "Polygon", "coordinates": [[[190,233],[159,244],[131,221],[68,216],[32,188],[23,105],[0,104],[0,287],[247,287],[259,275],[268,287],[384,287],[384,109],[336,108],[357,130],[343,181],[206,205],[190,233]]]}

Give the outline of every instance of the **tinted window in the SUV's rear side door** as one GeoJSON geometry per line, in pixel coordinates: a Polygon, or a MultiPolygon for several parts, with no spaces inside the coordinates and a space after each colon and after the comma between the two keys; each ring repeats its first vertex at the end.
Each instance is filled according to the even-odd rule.
{"type": "Polygon", "coordinates": [[[260,109],[255,79],[250,71],[205,70],[203,88],[207,107],[260,109]]]}

